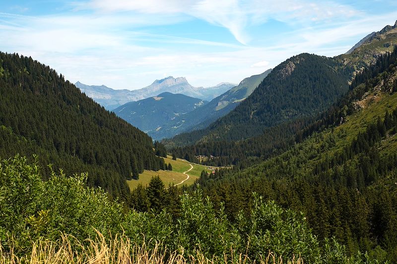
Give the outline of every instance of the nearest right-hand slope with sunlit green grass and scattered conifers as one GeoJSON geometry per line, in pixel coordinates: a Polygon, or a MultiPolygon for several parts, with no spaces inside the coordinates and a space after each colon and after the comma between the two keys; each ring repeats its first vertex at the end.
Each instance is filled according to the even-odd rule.
{"type": "MultiPolygon", "coordinates": [[[[251,192],[303,211],[320,238],[350,252],[397,259],[397,51],[359,75],[338,107],[303,129],[306,139],[245,170],[198,183],[229,217],[249,211],[251,192]],[[378,70],[381,73],[372,78],[378,70]],[[315,127],[315,129],[313,129],[315,127]]],[[[298,142],[301,140],[296,138],[298,142]]]]}

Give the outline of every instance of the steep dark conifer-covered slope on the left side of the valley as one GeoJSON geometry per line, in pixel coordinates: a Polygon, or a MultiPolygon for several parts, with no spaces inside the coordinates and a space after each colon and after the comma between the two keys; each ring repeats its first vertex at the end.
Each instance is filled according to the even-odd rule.
{"type": "Polygon", "coordinates": [[[0,102],[1,158],[37,154],[45,172],[87,171],[90,186],[123,197],[132,173],[164,168],[150,137],[30,57],[0,53],[0,102]]]}

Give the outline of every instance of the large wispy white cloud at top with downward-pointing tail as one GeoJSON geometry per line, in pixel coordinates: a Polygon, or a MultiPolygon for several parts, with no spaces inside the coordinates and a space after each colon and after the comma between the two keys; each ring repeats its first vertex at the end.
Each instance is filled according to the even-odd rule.
{"type": "Polygon", "coordinates": [[[296,24],[345,19],[360,13],[350,6],[314,0],[90,0],[78,6],[105,13],[185,14],[228,29],[244,45],[251,41],[247,27],[270,18],[296,24]]]}

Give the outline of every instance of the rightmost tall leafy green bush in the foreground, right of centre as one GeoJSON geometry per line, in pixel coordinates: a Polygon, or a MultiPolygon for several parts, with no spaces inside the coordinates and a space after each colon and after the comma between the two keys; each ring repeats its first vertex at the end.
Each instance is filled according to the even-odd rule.
{"type": "Polygon", "coordinates": [[[245,235],[251,256],[276,256],[291,258],[301,255],[309,263],[320,259],[320,247],[316,237],[307,226],[302,213],[284,210],[274,202],[263,202],[254,193],[254,206],[249,218],[238,216],[239,231],[245,235]]]}

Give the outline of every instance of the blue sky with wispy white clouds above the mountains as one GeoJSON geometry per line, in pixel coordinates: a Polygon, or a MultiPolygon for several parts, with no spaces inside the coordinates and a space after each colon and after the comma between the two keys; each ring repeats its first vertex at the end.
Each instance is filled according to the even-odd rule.
{"type": "Polygon", "coordinates": [[[0,51],[73,83],[208,87],[299,53],[345,53],[396,20],[396,0],[0,0],[0,51]]]}

